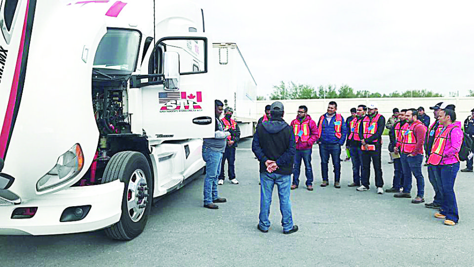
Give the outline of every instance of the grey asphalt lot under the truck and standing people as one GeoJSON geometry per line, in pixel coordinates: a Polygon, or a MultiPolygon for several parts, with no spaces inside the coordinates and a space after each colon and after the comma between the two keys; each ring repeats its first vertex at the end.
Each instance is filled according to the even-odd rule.
{"type": "MultiPolygon", "coordinates": [[[[387,136],[384,136],[384,138],[387,136]]],[[[293,220],[299,231],[282,233],[276,189],[268,233],[257,230],[260,186],[251,138],[237,148],[239,184],[226,179],[218,210],[202,207],[203,177],[162,197],[145,231],[134,240],[108,239],[103,231],[51,235],[0,236],[0,266],[473,266],[473,173],[459,173],[455,192],[460,221],[455,226],[433,217],[435,210],[393,193],[377,195],[373,170],[370,191],[357,192],[351,162],[342,162],[341,188],[321,182],[317,146],[313,149],[315,190],[291,191],[293,220]]],[[[388,144],[388,139],[384,139],[388,144]]],[[[384,145],[386,147],[387,145],[384,145]]],[[[343,156],[341,156],[343,157],[343,156]]],[[[383,152],[384,188],[392,186],[393,165],[383,152]]],[[[465,163],[461,163],[464,169],[465,163]]],[[[304,165],[302,165],[304,168],[304,165]]],[[[434,191],[425,176],[425,199],[434,191]]],[[[413,197],[416,194],[413,179],[413,197]]]]}

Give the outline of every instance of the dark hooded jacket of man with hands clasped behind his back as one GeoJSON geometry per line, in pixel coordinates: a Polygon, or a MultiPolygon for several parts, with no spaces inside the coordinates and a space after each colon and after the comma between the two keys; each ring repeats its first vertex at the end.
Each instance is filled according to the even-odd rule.
{"type": "Polygon", "coordinates": [[[276,174],[291,175],[295,157],[295,137],[283,119],[261,123],[253,135],[252,151],[260,162],[260,173],[267,172],[265,162],[276,161],[276,174]]]}

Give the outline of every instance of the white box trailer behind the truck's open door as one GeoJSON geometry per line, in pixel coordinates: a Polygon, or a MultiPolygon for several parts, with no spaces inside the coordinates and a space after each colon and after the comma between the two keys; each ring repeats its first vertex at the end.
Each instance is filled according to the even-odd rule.
{"type": "Polygon", "coordinates": [[[235,43],[212,44],[216,96],[234,109],[240,137],[253,135],[257,117],[257,83],[235,43]]]}

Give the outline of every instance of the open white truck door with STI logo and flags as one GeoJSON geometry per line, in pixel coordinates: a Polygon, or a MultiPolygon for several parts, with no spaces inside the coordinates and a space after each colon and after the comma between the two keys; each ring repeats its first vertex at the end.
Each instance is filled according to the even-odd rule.
{"type": "Polygon", "coordinates": [[[157,41],[148,66],[144,61],[142,73],[148,69],[148,75],[141,75],[139,87],[143,130],[150,140],[214,136],[207,51],[205,37],[165,37],[157,41]]]}

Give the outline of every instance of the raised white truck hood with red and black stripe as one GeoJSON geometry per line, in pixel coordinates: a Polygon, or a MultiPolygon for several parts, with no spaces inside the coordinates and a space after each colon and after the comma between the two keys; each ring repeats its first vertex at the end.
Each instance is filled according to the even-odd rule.
{"type": "Polygon", "coordinates": [[[71,186],[92,162],[99,136],[92,64],[107,29],[105,20],[91,19],[101,17],[94,10],[57,0],[19,0],[14,10],[10,40],[0,38],[7,50],[6,59],[0,53],[1,172],[15,178],[9,190],[27,200],[71,186]],[[84,155],[79,175],[37,192],[38,180],[77,143],[84,155]]]}

